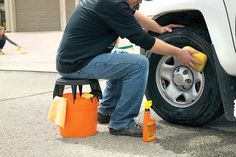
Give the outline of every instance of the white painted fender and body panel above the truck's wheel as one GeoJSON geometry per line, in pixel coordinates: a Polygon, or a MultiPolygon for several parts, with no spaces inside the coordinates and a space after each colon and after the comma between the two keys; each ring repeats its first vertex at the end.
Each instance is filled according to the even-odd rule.
{"type": "Polygon", "coordinates": [[[234,6],[235,0],[227,0],[226,3],[223,0],[155,0],[141,5],[140,10],[148,8],[144,14],[153,16],[153,19],[167,13],[200,11],[221,66],[228,74],[236,76],[236,68],[232,68],[236,67],[234,6]]]}

